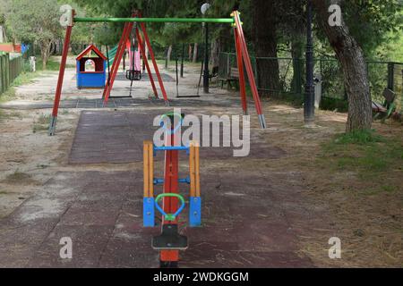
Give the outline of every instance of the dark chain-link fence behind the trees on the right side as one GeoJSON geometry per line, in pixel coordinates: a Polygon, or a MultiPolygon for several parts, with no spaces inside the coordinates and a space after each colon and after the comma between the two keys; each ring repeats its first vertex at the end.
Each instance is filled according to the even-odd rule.
{"type": "MultiPolygon", "coordinates": [[[[290,95],[303,98],[305,84],[305,60],[292,58],[262,58],[252,57],[253,71],[259,90],[269,91],[273,94],[290,95]],[[267,86],[267,81],[262,82],[257,69],[257,64],[273,66],[279,65],[279,87],[267,86]]],[[[236,69],[236,54],[221,53],[219,55],[219,80],[230,78],[231,69],[236,69]]],[[[374,101],[383,102],[383,90],[390,88],[398,98],[399,108],[403,105],[402,77],[403,63],[367,62],[368,78],[370,81],[371,95],[374,101]]],[[[321,84],[322,98],[324,102],[345,102],[347,94],[344,86],[344,76],[339,61],[336,59],[315,59],[314,76],[321,84]],[[328,101],[327,101],[328,99],[328,101]]],[[[347,106],[347,105],[346,105],[347,106]]]]}

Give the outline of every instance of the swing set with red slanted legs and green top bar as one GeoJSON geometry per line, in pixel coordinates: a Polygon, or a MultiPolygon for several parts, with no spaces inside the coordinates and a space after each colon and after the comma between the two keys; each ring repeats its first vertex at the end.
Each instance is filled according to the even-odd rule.
{"type": "MultiPolygon", "coordinates": [[[[169,101],[167,98],[167,90],[164,87],[164,83],[162,81],[161,75],[159,73],[159,67],[155,60],[155,56],[150,44],[150,38],[147,33],[146,23],[150,22],[192,22],[192,23],[227,23],[231,24],[234,27],[234,35],[235,35],[235,43],[236,43],[236,60],[237,66],[239,71],[239,88],[240,88],[240,95],[242,101],[242,108],[244,110],[244,114],[248,114],[248,105],[246,100],[246,88],[245,88],[245,76],[244,76],[244,67],[247,73],[249,84],[252,89],[253,101],[256,108],[256,113],[258,114],[259,122],[262,129],[266,128],[266,121],[264,118],[264,114],[262,112],[262,103],[259,97],[258,89],[256,86],[256,82],[254,80],[253,75],[253,68],[251,59],[247,50],[246,41],[244,38],[244,30],[242,29],[242,22],[240,19],[240,13],[234,11],[231,13],[231,18],[142,18],[141,13],[135,12],[132,15],[132,18],[80,18],[75,16],[74,10],[66,11],[64,14],[65,21],[64,24],[66,26],[65,37],[64,37],[64,46],[63,46],[63,54],[62,54],[62,61],[60,64],[60,71],[57,80],[56,86],[56,94],[55,94],[55,101],[53,105],[53,111],[51,116],[51,122],[49,126],[49,135],[55,135],[56,131],[56,121],[57,121],[57,114],[60,105],[60,99],[62,94],[63,88],[63,80],[64,80],[64,70],[67,61],[67,53],[70,45],[70,38],[72,35],[73,25],[79,22],[124,22],[124,31],[122,33],[122,37],[120,38],[119,44],[117,46],[115,60],[112,63],[112,67],[110,68],[108,79],[102,94],[102,98],[104,101],[104,106],[107,105],[107,101],[110,97],[111,90],[114,86],[114,82],[116,80],[116,74],[121,63],[122,57],[124,55],[124,49],[126,46],[127,41],[129,41],[131,32],[133,32],[133,25],[136,24],[134,27],[134,34],[135,38],[137,39],[138,47],[140,48],[141,56],[144,61],[145,67],[147,72],[149,73],[151,87],[154,92],[154,96],[159,98],[159,93],[157,91],[157,87],[155,84],[154,79],[152,78],[152,74],[150,72],[150,64],[148,63],[146,52],[144,46],[146,45],[149,53],[150,58],[157,75],[157,80],[159,81],[159,88],[161,90],[162,96],[165,100],[165,103],[169,105],[169,101]],[[141,37],[142,33],[142,37],[141,37]],[[144,44],[145,45],[144,45],[144,44]]],[[[134,37],[133,37],[134,38],[134,37]]],[[[133,43],[132,43],[133,45],[133,43]]],[[[133,55],[135,57],[135,55],[133,55]]],[[[132,58],[133,58],[132,57],[132,58]]],[[[132,63],[135,63],[133,61],[132,63]]],[[[135,80],[135,67],[133,64],[131,65],[131,71],[129,71],[129,78],[135,80]],[[132,73],[132,74],[130,74],[132,73]]],[[[132,81],[133,84],[133,81],[132,81]]]]}

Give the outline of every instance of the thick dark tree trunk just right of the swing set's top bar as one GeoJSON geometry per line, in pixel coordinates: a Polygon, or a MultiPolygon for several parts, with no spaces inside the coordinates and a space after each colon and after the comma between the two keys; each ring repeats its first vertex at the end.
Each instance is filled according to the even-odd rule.
{"type": "MultiPolygon", "coordinates": [[[[254,50],[257,57],[277,58],[276,4],[275,0],[253,0],[254,50]]],[[[261,95],[275,96],[280,89],[279,61],[277,59],[257,60],[257,81],[261,95]]]]}

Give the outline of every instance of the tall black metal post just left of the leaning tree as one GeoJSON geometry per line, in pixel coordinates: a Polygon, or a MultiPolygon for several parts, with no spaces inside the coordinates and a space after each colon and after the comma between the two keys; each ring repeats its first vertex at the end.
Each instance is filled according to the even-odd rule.
{"type": "Polygon", "coordinates": [[[312,1],[307,3],[306,27],[306,84],[304,94],[304,122],[312,124],[314,121],[314,86],[313,86],[313,34],[312,34],[312,1]]]}

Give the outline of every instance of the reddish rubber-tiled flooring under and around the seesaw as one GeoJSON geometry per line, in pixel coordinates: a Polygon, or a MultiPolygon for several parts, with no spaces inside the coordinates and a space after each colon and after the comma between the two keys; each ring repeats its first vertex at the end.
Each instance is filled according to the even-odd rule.
{"type": "MultiPolygon", "coordinates": [[[[81,117],[73,157],[74,146],[85,148],[96,139],[90,131],[81,131],[99,128],[115,134],[124,154],[128,133],[116,119],[134,124],[147,118],[122,112],[92,115],[99,121],[90,112],[81,117]]],[[[271,157],[265,153],[267,160],[285,155],[271,152],[271,157]]],[[[104,150],[94,154],[100,157],[104,150]]],[[[210,170],[201,173],[203,227],[183,229],[190,248],[182,253],[182,267],[313,266],[297,254],[301,225],[316,215],[300,204],[304,189],[299,175],[254,170],[253,164],[226,171],[213,164],[234,164],[230,157],[201,160],[210,170]]],[[[150,241],[159,228],[142,228],[141,196],[141,172],[58,172],[43,192],[0,221],[0,267],[158,267],[150,241]],[[59,257],[63,237],[73,240],[71,260],[59,257]]]]}

